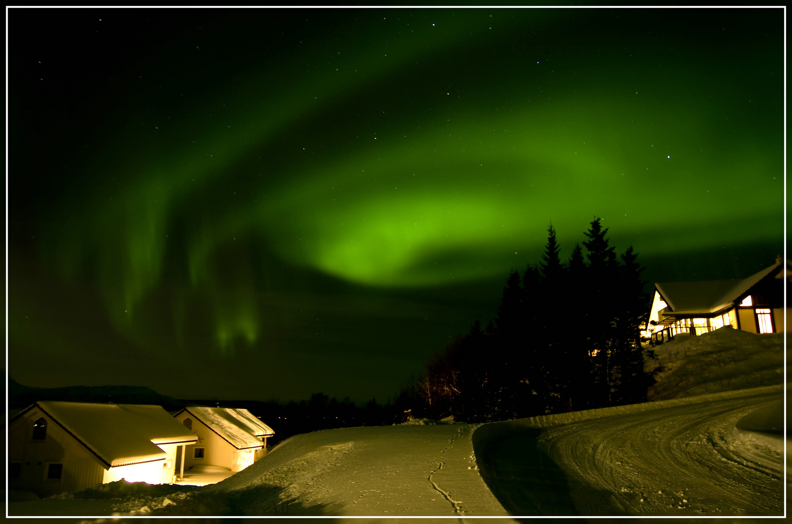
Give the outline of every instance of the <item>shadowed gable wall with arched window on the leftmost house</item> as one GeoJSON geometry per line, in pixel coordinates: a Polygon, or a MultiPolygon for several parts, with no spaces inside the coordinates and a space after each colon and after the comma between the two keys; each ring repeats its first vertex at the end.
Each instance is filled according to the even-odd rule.
{"type": "Polygon", "coordinates": [[[9,461],[21,463],[20,477],[9,479],[9,488],[46,497],[101,484],[105,465],[40,409],[33,408],[11,423],[9,461]],[[33,423],[47,421],[44,440],[32,440],[33,423]],[[59,480],[47,479],[49,464],[63,464],[59,480]]]}

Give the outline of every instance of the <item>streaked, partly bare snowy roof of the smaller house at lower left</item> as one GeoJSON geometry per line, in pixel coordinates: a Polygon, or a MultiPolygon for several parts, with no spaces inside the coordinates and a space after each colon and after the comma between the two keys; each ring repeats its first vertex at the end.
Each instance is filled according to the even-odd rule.
{"type": "Polygon", "coordinates": [[[247,409],[190,406],[183,411],[203,422],[238,450],[261,447],[261,437],[275,435],[271,427],[247,409]]]}

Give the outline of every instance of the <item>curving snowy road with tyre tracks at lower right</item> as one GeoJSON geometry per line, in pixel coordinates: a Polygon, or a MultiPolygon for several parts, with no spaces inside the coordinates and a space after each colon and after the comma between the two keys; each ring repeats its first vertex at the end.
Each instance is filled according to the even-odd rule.
{"type": "Polygon", "coordinates": [[[483,431],[478,462],[512,515],[781,515],[780,434],[736,427],[757,411],[779,427],[780,397],[777,386],[501,423],[483,431]]]}

